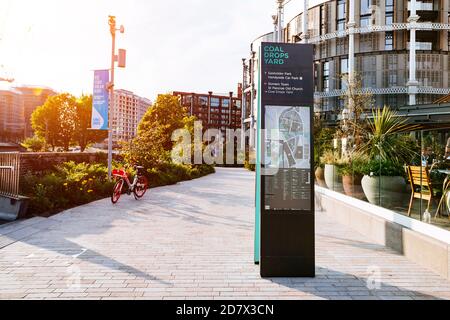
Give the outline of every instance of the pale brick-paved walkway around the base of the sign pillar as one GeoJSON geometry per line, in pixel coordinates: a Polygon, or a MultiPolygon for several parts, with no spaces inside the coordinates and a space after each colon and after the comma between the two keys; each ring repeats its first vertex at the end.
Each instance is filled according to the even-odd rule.
{"type": "Polygon", "coordinates": [[[0,226],[0,298],[450,299],[448,281],[322,213],[317,278],[261,279],[253,183],[218,169],[140,202],[0,226]]]}

